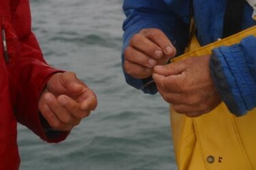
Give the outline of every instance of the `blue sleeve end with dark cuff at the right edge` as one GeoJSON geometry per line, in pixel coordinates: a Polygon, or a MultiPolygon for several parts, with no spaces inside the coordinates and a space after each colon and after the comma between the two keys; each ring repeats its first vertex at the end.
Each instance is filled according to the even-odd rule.
{"type": "Polygon", "coordinates": [[[256,107],[256,37],[214,49],[212,78],[230,112],[242,116],[256,107]]]}

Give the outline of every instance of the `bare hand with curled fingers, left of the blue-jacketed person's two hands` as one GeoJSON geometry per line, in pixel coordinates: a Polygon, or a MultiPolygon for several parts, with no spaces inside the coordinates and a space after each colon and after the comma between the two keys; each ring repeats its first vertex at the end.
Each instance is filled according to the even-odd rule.
{"type": "Polygon", "coordinates": [[[134,78],[148,78],[155,65],[165,65],[176,50],[159,29],[143,29],[130,39],[124,52],[124,70],[134,78]]]}

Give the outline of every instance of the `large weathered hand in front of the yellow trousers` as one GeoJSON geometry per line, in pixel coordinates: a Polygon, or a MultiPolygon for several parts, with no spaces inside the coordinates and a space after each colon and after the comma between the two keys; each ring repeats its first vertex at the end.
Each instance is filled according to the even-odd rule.
{"type": "Polygon", "coordinates": [[[196,56],[154,68],[158,91],[176,112],[195,117],[221,103],[210,77],[209,60],[210,55],[196,56]]]}

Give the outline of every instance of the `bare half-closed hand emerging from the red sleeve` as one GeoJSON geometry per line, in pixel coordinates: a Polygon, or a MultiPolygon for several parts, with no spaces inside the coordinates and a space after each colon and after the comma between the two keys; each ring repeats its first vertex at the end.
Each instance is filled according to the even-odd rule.
{"type": "Polygon", "coordinates": [[[72,72],[55,73],[39,101],[42,116],[59,131],[70,131],[96,106],[94,92],[72,72]]]}

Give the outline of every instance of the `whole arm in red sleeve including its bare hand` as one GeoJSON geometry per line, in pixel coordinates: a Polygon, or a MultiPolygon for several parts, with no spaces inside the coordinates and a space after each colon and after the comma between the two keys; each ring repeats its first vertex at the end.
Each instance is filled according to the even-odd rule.
{"type": "Polygon", "coordinates": [[[95,109],[96,96],[74,73],[63,73],[44,61],[31,32],[29,1],[14,4],[13,10],[12,24],[4,20],[3,25],[10,56],[8,73],[14,114],[18,122],[43,140],[62,141],[95,109]]]}

